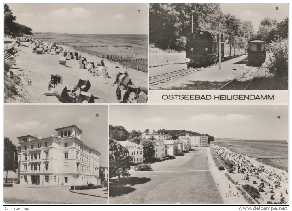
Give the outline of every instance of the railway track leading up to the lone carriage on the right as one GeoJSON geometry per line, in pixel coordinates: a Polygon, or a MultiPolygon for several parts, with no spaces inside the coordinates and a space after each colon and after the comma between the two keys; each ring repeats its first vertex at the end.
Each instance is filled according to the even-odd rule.
{"type": "Polygon", "coordinates": [[[241,88],[240,90],[246,90],[248,85],[250,85],[253,78],[255,78],[259,72],[261,67],[251,67],[244,73],[242,73],[237,78],[229,81],[218,90],[234,90],[234,86],[238,85],[237,88],[241,88]]]}

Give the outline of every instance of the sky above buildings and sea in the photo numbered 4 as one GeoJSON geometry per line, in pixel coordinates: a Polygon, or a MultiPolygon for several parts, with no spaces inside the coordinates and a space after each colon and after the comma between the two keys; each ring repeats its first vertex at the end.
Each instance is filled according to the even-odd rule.
{"type": "Polygon", "coordinates": [[[129,132],[171,129],[207,133],[215,138],[287,140],[288,106],[111,105],[109,124],[124,126],[129,132]]]}

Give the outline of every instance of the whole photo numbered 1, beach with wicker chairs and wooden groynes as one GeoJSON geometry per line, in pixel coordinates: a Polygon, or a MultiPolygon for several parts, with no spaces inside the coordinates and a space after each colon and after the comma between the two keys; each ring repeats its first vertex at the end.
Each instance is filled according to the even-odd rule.
{"type": "Polygon", "coordinates": [[[4,4],[4,102],[146,103],[147,3],[4,4]]]}

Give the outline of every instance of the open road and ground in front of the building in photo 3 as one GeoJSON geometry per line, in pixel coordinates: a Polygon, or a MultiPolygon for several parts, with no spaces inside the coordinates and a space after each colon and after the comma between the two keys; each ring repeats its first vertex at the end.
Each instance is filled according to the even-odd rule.
{"type": "Polygon", "coordinates": [[[4,203],[8,204],[106,204],[106,198],[82,195],[70,187],[4,188],[4,203]]]}

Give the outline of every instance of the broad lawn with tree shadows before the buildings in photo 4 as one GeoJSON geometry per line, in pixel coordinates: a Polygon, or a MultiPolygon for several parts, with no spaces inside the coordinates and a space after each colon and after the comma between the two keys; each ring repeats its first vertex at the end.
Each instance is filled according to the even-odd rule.
{"type": "MultiPolygon", "coordinates": [[[[207,148],[151,164],[153,171],[134,171],[110,179],[110,204],[223,204],[207,158],[207,148]]],[[[226,178],[225,178],[226,180],[226,178]]]]}

